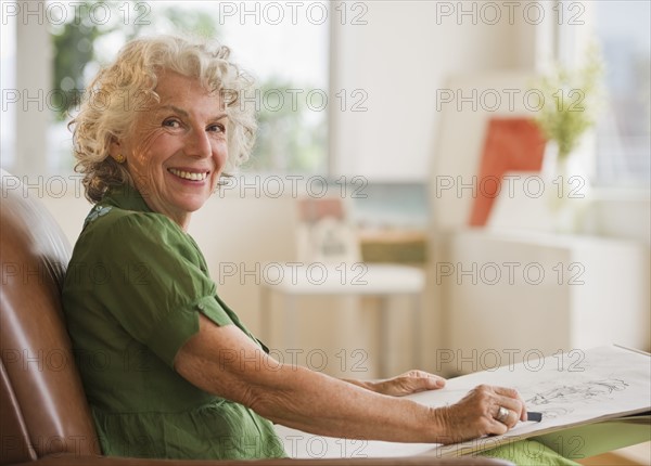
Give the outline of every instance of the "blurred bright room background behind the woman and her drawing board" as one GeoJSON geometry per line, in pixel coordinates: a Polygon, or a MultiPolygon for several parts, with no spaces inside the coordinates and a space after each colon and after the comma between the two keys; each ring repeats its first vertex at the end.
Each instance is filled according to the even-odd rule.
{"type": "Polygon", "coordinates": [[[74,244],[89,79],[133,37],[217,38],[258,83],[259,135],[191,233],[279,358],[368,378],[649,350],[649,9],[2,1],[1,164],[74,244]]]}

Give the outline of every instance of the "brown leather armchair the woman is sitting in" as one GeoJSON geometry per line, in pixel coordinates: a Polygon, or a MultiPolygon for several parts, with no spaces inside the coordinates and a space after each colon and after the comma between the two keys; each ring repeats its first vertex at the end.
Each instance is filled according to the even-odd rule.
{"type": "MultiPolygon", "coordinates": [[[[0,465],[234,465],[102,456],[62,320],[60,287],[71,247],[40,202],[2,171],[0,260],[0,465]]],[[[263,459],[296,465],[506,465],[483,457],[263,459]]]]}

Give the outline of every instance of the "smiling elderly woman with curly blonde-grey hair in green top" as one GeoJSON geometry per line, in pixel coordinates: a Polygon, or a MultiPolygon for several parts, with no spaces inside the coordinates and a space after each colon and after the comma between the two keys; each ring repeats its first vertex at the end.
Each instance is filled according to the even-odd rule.
{"type": "Polygon", "coordinates": [[[285,452],[272,423],[450,443],[525,419],[509,388],[480,386],[433,409],[399,397],[444,387],[423,372],[365,383],[281,364],[219,298],[187,230],[251,151],[253,108],[239,100],[251,86],[225,47],[135,40],[91,82],[72,122],[95,205],[63,303],[103,452],[278,457],[285,452]]]}

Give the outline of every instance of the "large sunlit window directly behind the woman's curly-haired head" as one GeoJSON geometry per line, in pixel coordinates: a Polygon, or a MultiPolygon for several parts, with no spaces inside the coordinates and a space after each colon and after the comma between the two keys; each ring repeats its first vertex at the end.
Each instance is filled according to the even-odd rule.
{"type": "MultiPolygon", "coordinates": [[[[50,2],[52,3],[52,2],[50,2]]],[[[62,2],[56,2],[62,4],[62,2]]],[[[217,38],[256,78],[247,95],[259,131],[248,170],[324,172],[328,154],[328,9],[301,2],[67,2],[51,24],[53,89],[65,95],[50,131],[51,157],[72,166],[68,112],[88,80],[129,39],[183,34],[217,38]]]]}

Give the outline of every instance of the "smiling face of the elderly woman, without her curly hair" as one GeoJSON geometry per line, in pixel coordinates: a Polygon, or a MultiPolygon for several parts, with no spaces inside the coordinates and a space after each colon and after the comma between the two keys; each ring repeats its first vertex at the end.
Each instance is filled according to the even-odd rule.
{"type": "Polygon", "coordinates": [[[155,212],[187,230],[190,216],[210,196],[228,156],[221,99],[197,79],[166,70],[159,102],[139,111],[128,138],[111,144],[126,157],[136,189],[155,212]]]}

